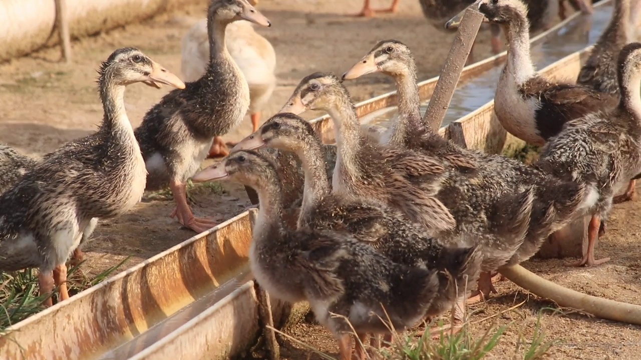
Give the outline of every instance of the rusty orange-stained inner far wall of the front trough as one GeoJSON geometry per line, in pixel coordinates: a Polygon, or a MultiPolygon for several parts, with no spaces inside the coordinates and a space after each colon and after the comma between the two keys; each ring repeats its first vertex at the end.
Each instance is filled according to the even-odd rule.
{"type": "Polygon", "coordinates": [[[246,267],[252,224],[245,211],[17,323],[0,337],[0,359],[83,359],[121,345],[246,267]]]}

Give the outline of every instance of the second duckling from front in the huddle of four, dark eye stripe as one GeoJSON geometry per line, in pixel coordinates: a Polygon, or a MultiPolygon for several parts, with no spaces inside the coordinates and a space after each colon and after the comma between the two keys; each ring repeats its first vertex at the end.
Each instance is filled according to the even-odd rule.
{"type": "MultiPolygon", "coordinates": [[[[356,240],[369,243],[395,263],[435,264],[443,271],[438,274],[437,295],[426,313],[429,317],[451,309],[457,299],[461,302],[465,299],[467,282],[476,281],[481,265],[481,251],[470,239],[445,243],[429,238],[424,227],[408,222],[385,204],[331,193],[325,176],[323,144],[313,127],[294,114],[274,115],[256,133],[239,142],[232,152],[263,146],[294,152],[301,159],[305,183],[299,229],[348,231],[356,240]],[[438,257],[432,258],[437,253],[438,257]]],[[[531,201],[526,198],[525,211],[529,205],[531,201]]],[[[462,311],[463,306],[456,309],[462,311]]],[[[462,325],[464,314],[456,313],[454,318],[462,325]]]]}

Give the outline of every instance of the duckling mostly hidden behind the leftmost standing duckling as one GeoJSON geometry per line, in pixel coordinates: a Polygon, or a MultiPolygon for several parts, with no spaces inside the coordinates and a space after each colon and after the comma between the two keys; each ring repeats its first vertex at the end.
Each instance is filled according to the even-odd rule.
{"type": "MultiPolygon", "coordinates": [[[[37,163],[37,160],[15,151],[12,147],[0,144],[0,193],[6,192],[17,184],[22,176],[31,171],[37,163]]],[[[85,227],[80,244],[74,249],[71,256],[73,265],[78,265],[85,258],[81,247],[91,238],[97,224],[98,219],[92,218],[85,227]]]]}

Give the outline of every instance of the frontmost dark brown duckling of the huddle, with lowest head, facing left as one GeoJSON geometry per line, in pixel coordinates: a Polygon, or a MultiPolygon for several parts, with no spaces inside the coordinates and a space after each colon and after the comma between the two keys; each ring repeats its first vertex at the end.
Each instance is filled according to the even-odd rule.
{"type": "MultiPolygon", "coordinates": [[[[288,230],[281,220],[283,181],[258,152],[233,152],[192,177],[195,182],[212,180],[235,181],[258,192],[249,249],[256,281],[276,299],[307,300],[319,323],[337,339],[340,359],[351,359],[352,327],[363,339],[367,333],[389,332],[381,319],[404,331],[421,320],[437,295],[433,267],[394,263],[349,233],[288,230]]],[[[362,348],[357,350],[359,359],[365,359],[362,348]]]]}

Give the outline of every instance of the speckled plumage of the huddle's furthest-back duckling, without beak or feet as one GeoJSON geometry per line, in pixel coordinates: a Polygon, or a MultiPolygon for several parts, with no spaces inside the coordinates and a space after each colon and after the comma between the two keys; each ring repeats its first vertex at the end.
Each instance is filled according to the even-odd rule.
{"type": "Polygon", "coordinates": [[[518,263],[533,256],[544,238],[571,218],[582,199],[580,186],[533,170],[517,160],[463,149],[433,133],[420,116],[419,90],[410,49],[396,40],[385,40],[376,44],[370,54],[373,59],[370,55],[363,59],[372,61],[370,65],[377,72],[394,78],[397,86],[399,116],[391,126],[394,134],[390,139],[399,140],[390,146],[423,152],[461,171],[460,174],[453,172],[452,179],[444,181],[437,194],[456,219],[456,231],[440,236],[455,239],[462,234],[480,235],[478,243],[487,258],[484,268],[489,271],[508,259],[510,263],[518,263]],[[466,168],[469,170],[464,171],[466,168]],[[513,196],[503,198],[528,186],[536,189],[531,214],[522,213],[513,196]],[[524,234],[519,225],[522,220],[515,216],[517,213],[529,220],[524,241],[521,241],[524,234]],[[500,261],[492,260],[496,258],[500,261]]]}

